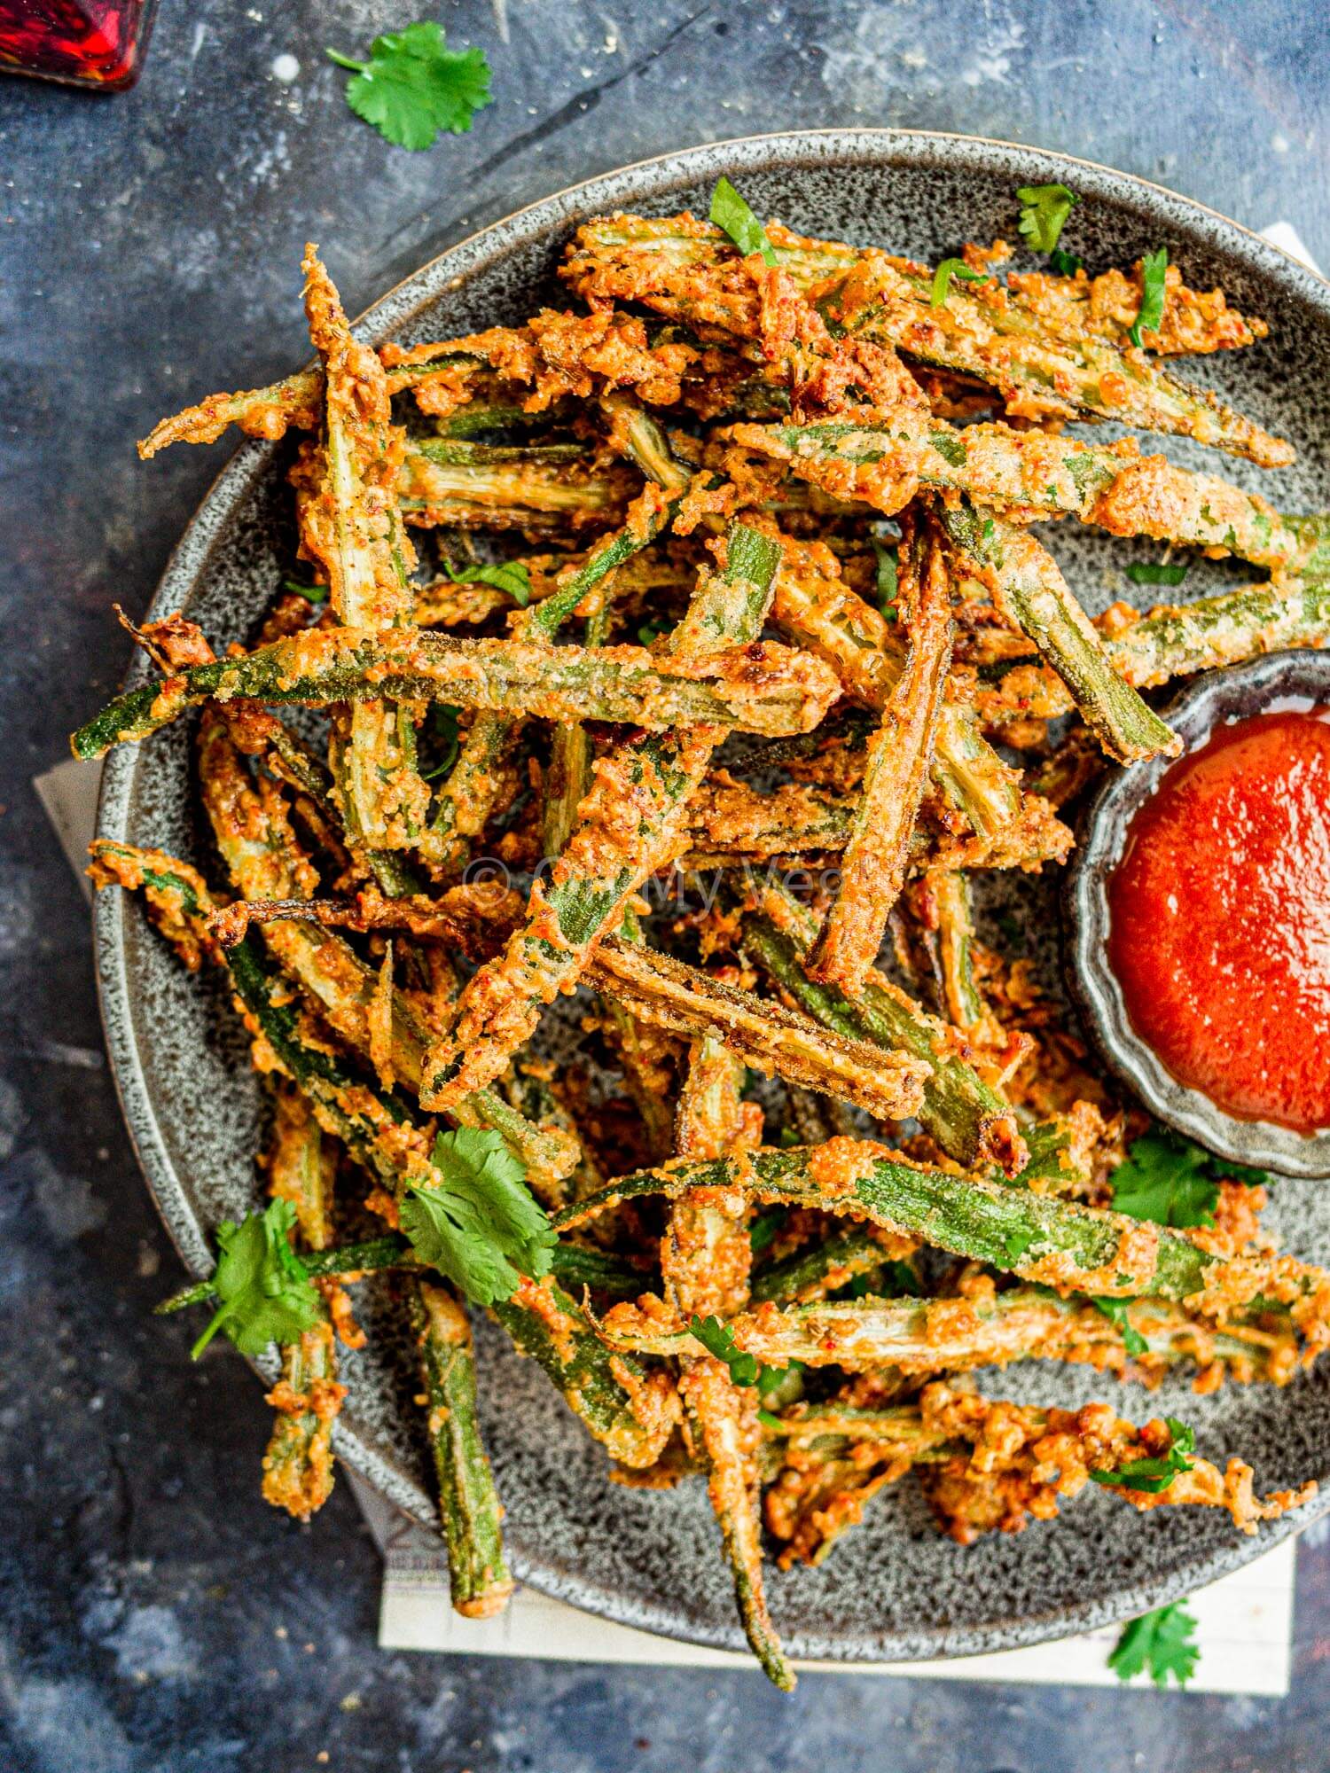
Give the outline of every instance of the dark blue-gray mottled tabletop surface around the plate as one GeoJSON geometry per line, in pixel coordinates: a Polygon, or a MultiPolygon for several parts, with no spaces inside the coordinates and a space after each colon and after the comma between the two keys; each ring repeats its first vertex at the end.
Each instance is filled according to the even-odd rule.
{"type": "Polygon", "coordinates": [[[504,44],[488,7],[447,9],[489,48],[500,103],[429,156],[385,147],[317,67],[323,43],[413,16],[397,4],[167,0],[128,98],[0,87],[0,1766],[1319,1773],[1330,1555],[1307,1543],[1284,1702],[872,1677],[805,1677],[784,1702],[759,1675],[379,1656],[349,1498],[309,1530],[275,1519],[252,1378],[231,1358],[188,1369],[188,1330],[144,1319],[174,1257],[28,778],[112,688],[108,605],[144,608],[215,470],[209,452],[140,468],[131,440],[301,355],[307,234],[358,307],[589,172],[771,126],[896,122],[1082,152],[1257,227],[1284,215],[1330,262],[1314,0],[507,11],[504,44]],[[301,62],[293,87],[270,74],[278,53],[301,62]]]}

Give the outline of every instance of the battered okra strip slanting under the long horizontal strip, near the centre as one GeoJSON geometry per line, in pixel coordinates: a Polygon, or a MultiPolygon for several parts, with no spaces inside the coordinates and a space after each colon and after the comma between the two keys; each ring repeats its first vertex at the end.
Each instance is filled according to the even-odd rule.
{"type": "MultiPolygon", "coordinates": [[[[747,672],[757,663],[777,560],[770,537],[731,525],[725,566],[700,576],[685,617],[690,633],[715,635],[716,645],[685,647],[674,654],[679,668],[736,660],[734,668],[747,672]],[[748,665],[738,665],[739,658],[748,665]]],[[[541,605],[537,621],[550,610],[541,605]]],[[[649,723],[640,711],[630,718],[649,723]]],[[[718,738],[713,725],[645,734],[596,762],[594,785],[548,886],[536,881],[523,927],[466,984],[456,1027],[431,1048],[426,1105],[447,1106],[498,1076],[544,1005],[576,984],[601,934],[622,922],[631,894],[685,847],[686,805],[718,738]]]]}

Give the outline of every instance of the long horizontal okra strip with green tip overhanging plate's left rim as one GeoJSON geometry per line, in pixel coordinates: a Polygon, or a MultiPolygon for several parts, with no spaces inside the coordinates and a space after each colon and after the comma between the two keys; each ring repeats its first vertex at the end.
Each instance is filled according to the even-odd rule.
{"type": "Polygon", "coordinates": [[[839,693],[821,660],[771,642],[704,660],[645,647],[537,647],[415,629],[340,628],[193,665],[117,697],[71,739],[74,757],[145,739],[209,699],[312,707],[356,699],[440,700],[546,720],[663,729],[709,723],[780,738],[810,732],[839,693]]]}

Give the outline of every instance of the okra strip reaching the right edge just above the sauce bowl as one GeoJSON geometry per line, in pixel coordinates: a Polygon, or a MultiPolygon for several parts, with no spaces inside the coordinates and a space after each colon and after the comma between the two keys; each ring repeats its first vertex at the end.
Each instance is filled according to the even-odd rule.
{"type": "MultiPolygon", "coordinates": [[[[1096,622],[1103,651],[1124,683],[1149,688],[1201,670],[1222,670],[1284,647],[1330,640],[1330,578],[1243,585],[1195,603],[1156,605],[1146,615],[1115,605],[1096,622]]],[[[1044,667],[1018,660],[975,686],[975,706],[993,725],[1069,713],[1066,686],[1044,667]]]]}

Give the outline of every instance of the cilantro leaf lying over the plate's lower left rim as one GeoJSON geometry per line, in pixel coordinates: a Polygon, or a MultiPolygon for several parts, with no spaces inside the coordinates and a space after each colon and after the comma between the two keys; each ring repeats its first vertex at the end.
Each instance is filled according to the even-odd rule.
{"type": "Polygon", "coordinates": [[[218,1330],[225,1330],[241,1355],[262,1355],[270,1342],[296,1342],[323,1317],[323,1300],[291,1248],[289,1232],[296,1209],[273,1200],[262,1213],[236,1225],[216,1227],[216,1273],[220,1300],[213,1319],[190,1349],[199,1360],[218,1330]]]}

